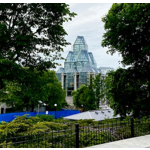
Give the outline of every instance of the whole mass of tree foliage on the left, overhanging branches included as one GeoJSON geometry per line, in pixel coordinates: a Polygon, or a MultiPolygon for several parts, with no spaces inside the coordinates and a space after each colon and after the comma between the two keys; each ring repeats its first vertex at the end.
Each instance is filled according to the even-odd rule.
{"type": "Polygon", "coordinates": [[[32,111],[39,99],[51,101],[48,108],[55,99],[60,101],[58,109],[66,105],[65,92],[59,89],[55,77],[49,83],[43,80],[50,76],[46,73],[48,69],[59,65],[56,60],[63,59],[63,47],[70,44],[65,40],[63,23],[76,14],[68,6],[66,3],[0,4],[0,102],[15,109],[32,107],[32,111]],[[8,95],[3,93],[6,90],[8,95]]]}

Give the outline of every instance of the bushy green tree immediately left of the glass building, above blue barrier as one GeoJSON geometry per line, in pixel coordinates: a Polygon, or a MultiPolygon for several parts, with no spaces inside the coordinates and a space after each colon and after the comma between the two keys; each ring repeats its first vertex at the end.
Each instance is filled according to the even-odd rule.
{"type": "Polygon", "coordinates": [[[55,72],[45,71],[41,79],[40,99],[47,104],[47,110],[55,110],[55,103],[57,104],[57,110],[67,106],[66,92],[62,89],[55,72]]]}

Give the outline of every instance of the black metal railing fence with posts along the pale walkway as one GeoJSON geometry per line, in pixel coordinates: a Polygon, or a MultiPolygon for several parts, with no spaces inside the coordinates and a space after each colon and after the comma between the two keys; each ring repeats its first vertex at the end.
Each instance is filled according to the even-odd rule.
{"type": "Polygon", "coordinates": [[[80,126],[51,132],[1,137],[0,148],[84,148],[150,134],[150,119],[127,119],[112,123],[80,126]]]}

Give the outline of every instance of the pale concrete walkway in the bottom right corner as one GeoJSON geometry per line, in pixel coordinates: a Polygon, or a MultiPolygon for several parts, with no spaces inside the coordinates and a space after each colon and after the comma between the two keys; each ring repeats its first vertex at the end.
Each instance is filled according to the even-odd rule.
{"type": "Polygon", "coordinates": [[[150,135],[104,143],[86,148],[150,148],[150,135]]]}

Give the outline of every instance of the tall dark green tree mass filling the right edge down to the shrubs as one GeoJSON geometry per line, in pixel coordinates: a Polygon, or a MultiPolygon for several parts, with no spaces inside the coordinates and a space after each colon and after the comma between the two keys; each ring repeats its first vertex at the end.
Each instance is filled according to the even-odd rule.
{"type": "MultiPolygon", "coordinates": [[[[108,47],[107,53],[112,55],[115,52],[119,52],[123,58],[121,63],[124,66],[130,65],[128,69],[119,69],[112,74],[114,76],[113,83],[115,84],[113,87],[120,92],[120,89],[124,89],[124,94],[123,91],[118,93],[115,88],[111,90],[111,93],[112,95],[123,94],[124,96],[126,94],[124,101],[130,103],[131,109],[129,110],[135,116],[147,115],[150,110],[148,106],[150,101],[149,16],[149,3],[115,3],[108,14],[102,18],[106,30],[106,33],[103,35],[102,46],[108,47]],[[136,94],[134,95],[133,93],[136,94]],[[128,99],[129,97],[130,100],[128,99]]],[[[121,97],[123,98],[122,95],[121,97]]],[[[119,99],[119,97],[114,96],[113,105],[117,106],[123,102],[123,99],[119,99]]],[[[120,106],[123,110],[124,106],[120,106]]],[[[116,110],[116,112],[122,114],[121,111],[116,110]]]]}

